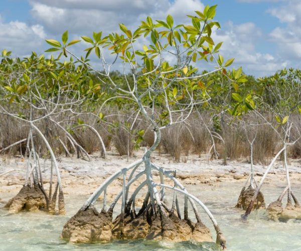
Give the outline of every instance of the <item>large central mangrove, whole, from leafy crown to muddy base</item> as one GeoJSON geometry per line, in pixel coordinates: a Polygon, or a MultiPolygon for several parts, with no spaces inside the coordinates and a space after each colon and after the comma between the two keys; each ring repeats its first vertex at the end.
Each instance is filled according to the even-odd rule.
{"type": "Polygon", "coordinates": [[[102,32],[94,32],[92,37],[82,36],[82,40],[89,44],[85,57],[78,57],[69,49],[80,40],[67,43],[67,31],[62,36],[62,43],[46,40],[53,46],[48,51],[60,50],[66,56],[75,57],[97,75],[101,85],[109,86],[116,99],[128,100],[137,114],[142,114],[155,135],[154,144],[145,150],[140,160],[110,176],[67,221],[61,235],[66,240],[76,243],[135,238],[211,241],[209,228],[202,223],[198,212],[200,206],[213,223],[216,243],[225,248],[226,240],[221,229],[204,203],[186,190],[174,172],[165,170],[152,160],[152,154],[161,141],[162,130],[185,123],[195,107],[209,104],[212,83],[203,82],[206,76],[221,72],[222,78],[235,76],[234,82],[246,81],[241,68],[233,69],[231,74],[226,71],[225,67],[234,59],[224,62],[222,55],[218,54],[222,43],[215,44],[211,37],[212,29],[220,28],[219,23],[213,21],[215,12],[216,6],[207,6],[203,12],[196,11],[195,16],[188,16],[191,25],[174,25],[170,15],[165,21],[156,22],[147,17],[134,31],[120,24],[120,34],[103,36],[102,32]],[[149,39],[150,44],[141,46],[145,39],[149,39]],[[111,52],[109,59],[105,58],[107,52],[104,49],[111,52]],[[91,52],[100,59],[100,70],[89,64],[91,52]],[[198,61],[212,61],[216,68],[199,72],[193,66],[198,61]],[[110,76],[110,70],[116,63],[123,68],[122,80],[118,82],[110,76]],[[155,174],[160,181],[156,181],[155,174]],[[107,206],[108,187],[120,178],[122,189],[107,206]],[[139,185],[130,193],[135,183],[139,185]],[[137,210],[137,195],[143,189],[146,189],[143,203],[137,210]],[[167,190],[173,193],[171,201],[167,200],[167,190]],[[180,201],[179,194],[184,196],[184,201],[180,201]],[[96,207],[100,196],[103,199],[101,210],[96,207]],[[113,219],[118,201],[121,201],[121,209],[113,219]],[[184,215],[180,210],[183,204],[184,215]],[[193,209],[196,223],[189,219],[189,206],[193,209]]]}

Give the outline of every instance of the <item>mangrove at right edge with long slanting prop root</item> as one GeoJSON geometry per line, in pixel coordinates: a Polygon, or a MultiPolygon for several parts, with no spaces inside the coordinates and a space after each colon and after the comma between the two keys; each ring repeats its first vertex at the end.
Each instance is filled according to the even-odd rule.
{"type": "MultiPolygon", "coordinates": [[[[299,70],[284,69],[279,73],[276,73],[274,76],[267,77],[259,81],[259,83],[264,85],[263,93],[261,95],[255,94],[257,96],[256,99],[258,100],[257,107],[256,109],[254,109],[255,108],[255,104],[254,104],[253,105],[254,108],[253,107],[252,108],[258,120],[260,120],[262,124],[267,124],[271,128],[271,130],[273,130],[277,134],[281,142],[281,149],[270,161],[270,164],[266,168],[266,171],[263,174],[258,186],[253,191],[252,198],[251,200],[249,200],[249,204],[247,208],[243,208],[246,209],[245,213],[242,215],[244,219],[248,217],[251,210],[254,208],[255,202],[259,200],[261,196],[260,189],[263,185],[263,182],[267,174],[271,170],[274,162],[281,154],[283,159],[283,167],[285,169],[286,187],[284,188],[284,190],[282,191],[278,199],[269,204],[269,206],[267,207],[267,213],[270,216],[270,218],[274,220],[301,218],[301,213],[300,213],[301,208],[291,188],[289,169],[287,164],[288,147],[293,146],[297,141],[301,139],[301,132],[290,119],[293,113],[301,112],[299,106],[300,93],[301,93],[299,74],[300,74],[299,70]],[[270,84],[266,85],[265,83],[267,82],[270,84]],[[273,121],[268,121],[266,117],[262,115],[264,113],[263,111],[270,111],[274,115],[273,121]],[[294,136],[292,136],[291,134],[292,131],[294,131],[294,136]],[[285,194],[287,194],[287,204],[285,208],[282,208],[281,201],[285,194]]],[[[237,101],[241,101],[241,100],[237,100],[237,101]]],[[[252,149],[251,143],[250,145],[252,149]]],[[[252,166],[252,162],[251,162],[251,166],[252,166]]],[[[251,169],[251,177],[252,177],[252,173],[253,173],[253,169],[251,169]]]]}

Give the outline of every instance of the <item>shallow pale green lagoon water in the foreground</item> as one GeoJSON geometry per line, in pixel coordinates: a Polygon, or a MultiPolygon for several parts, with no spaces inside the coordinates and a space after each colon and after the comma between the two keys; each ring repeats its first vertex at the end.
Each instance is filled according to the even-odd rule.
{"type": "MultiPolygon", "coordinates": [[[[253,212],[242,220],[241,210],[234,208],[240,192],[237,184],[220,183],[219,186],[188,185],[216,217],[227,239],[228,250],[301,250],[301,221],[274,222],[268,220],[264,210],[253,212]]],[[[276,200],[283,187],[264,185],[266,204],[276,200]]],[[[301,199],[301,193],[295,193],[301,199]]],[[[13,195],[2,195],[8,200],[13,195]]],[[[76,245],[60,239],[63,224],[80,208],[86,197],[66,196],[64,216],[44,212],[8,214],[0,203],[0,250],[218,250],[214,243],[169,243],[165,241],[114,241],[105,244],[76,245]]],[[[201,209],[200,209],[201,211],[201,209]]],[[[190,212],[191,213],[191,212],[190,212]]],[[[192,215],[192,213],[191,213],[192,215]]],[[[204,223],[214,229],[202,213],[204,223]]],[[[214,236],[215,239],[215,236],[214,236]]]]}

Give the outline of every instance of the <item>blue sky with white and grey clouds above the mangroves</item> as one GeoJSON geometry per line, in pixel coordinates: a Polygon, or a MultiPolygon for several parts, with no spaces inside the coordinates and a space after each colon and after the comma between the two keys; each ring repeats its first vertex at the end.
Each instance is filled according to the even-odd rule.
{"type": "Polygon", "coordinates": [[[49,48],[45,39],[59,39],[65,30],[75,39],[116,31],[119,23],[134,29],[147,16],[171,14],[185,23],[186,15],[214,4],[222,29],[213,37],[224,41],[221,54],[235,57],[234,67],[257,77],[300,68],[300,0],[0,0],[0,50],[40,54],[49,48]]]}

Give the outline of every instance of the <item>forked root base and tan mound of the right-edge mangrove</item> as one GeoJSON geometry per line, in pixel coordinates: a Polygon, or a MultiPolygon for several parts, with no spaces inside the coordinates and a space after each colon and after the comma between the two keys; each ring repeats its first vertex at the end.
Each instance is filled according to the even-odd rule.
{"type": "Polygon", "coordinates": [[[286,187],[282,194],[276,201],[270,203],[266,209],[268,216],[270,219],[278,221],[278,220],[288,220],[288,219],[301,219],[301,206],[299,205],[297,199],[293,195],[292,191],[288,191],[286,187]],[[287,191],[288,200],[285,207],[282,207],[282,198],[287,191]],[[291,202],[291,197],[293,199],[294,204],[291,202]]]}

